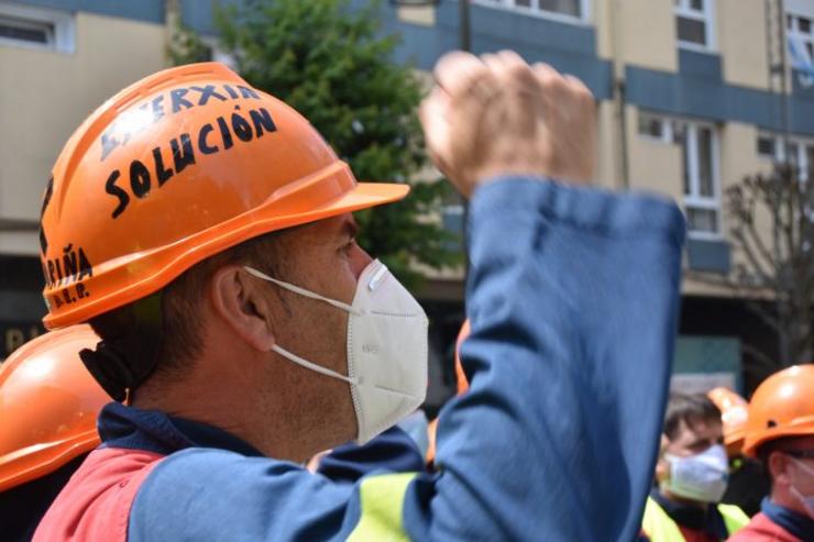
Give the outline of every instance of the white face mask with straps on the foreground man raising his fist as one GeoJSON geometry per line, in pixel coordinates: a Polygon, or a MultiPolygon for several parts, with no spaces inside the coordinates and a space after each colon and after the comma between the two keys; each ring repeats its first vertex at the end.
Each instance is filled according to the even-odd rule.
{"type": "Polygon", "coordinates": [[[326,368],[278,345],[283,357],[351,386],[353,409],[364,444],[416,410],[427,396],[427,328],[421,306],[380,261],[371,262],[356,283],[353,305],[330,299],[245,269],[300,296],[348,311],[348,376],[326,368]]]}

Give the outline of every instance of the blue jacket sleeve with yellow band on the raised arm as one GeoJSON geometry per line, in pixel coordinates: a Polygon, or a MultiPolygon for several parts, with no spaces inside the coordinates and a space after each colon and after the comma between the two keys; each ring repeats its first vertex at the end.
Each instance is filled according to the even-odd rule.
{"type": "Polygon", "coordinates": [[[468,394],[440,472],[337,484],[229,452],[147,477],[131,540],[629,541],[668,389],[683,218],[674,204],[532,178],[470,207],[468,394]]]}

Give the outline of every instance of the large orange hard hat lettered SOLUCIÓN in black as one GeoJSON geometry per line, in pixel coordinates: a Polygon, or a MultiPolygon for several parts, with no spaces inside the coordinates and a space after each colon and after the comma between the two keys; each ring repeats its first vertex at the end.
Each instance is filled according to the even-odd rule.
{"type": "Polygon", "coordinates": [[[70,136],[43,198],[50,329],[153,294],[251,237],[398,200],[311,124],[218,63],[122,90],[70,136]]]}

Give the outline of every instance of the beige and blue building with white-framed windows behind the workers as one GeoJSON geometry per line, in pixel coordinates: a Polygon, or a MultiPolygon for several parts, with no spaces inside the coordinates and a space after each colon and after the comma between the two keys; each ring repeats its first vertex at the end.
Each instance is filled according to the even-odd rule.
{"type": "MultiPolygon", "coordinates": [[[[457,1],[397,3],[381,9],[383,30],[403,38],[395,62],[430,70],[459,47],[457,1]]],[[[167,66],[175,18],[216,44],[212,5],[0,0],[0,358],[41,330],[37,219],[63,143],[106,98],[167,66]]],[[[814,167],[814,81],[777,69],[811,62],[812,21],[814,0],[471,1],[475,53],[516,49],[591,88],[597,184],[681,202],[690,234],[676,368],[688,386],[721,379],[749,391],[771,370],[749,354],[776,355],[768,330],[696,273],[727,274],[739,257],[727,239],[727,187],[778,158],[814,167]]],[[[462,217],[451,204],[443,219],[460,230],[462,217]]],[[[419,297],[433,317],[438,365],[448,367],[463,318],[462,273],[430,275],[419,297]]],[[[451,385],[451,372],[441,373],[451,385]]]]}

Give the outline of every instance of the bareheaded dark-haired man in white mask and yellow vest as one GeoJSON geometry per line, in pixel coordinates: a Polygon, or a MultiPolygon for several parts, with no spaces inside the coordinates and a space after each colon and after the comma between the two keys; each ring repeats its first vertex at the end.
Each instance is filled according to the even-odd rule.
{"type": "Polygon", "coordinates": [[[721,411],[708,397],[670,395],[645,540],[719,542],[749,521],[739,508],[718,505],[729,467],[723,440],[721,411]]]}

